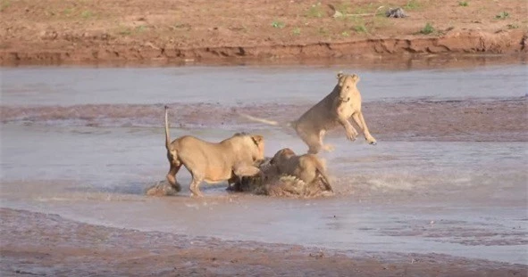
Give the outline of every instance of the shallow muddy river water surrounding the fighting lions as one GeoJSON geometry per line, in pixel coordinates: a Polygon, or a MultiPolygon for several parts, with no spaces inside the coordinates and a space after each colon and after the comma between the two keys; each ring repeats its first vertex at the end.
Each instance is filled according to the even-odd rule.
{"type": "MultiPolygon", "coordinates": [[[[373,134],[382,138],[375,147],[362,139],[350,143],[339,132],[329,135],[326,141],[337,151],[322,157],[335,197],[287,200],[229,194],[225,184],[203,184],[206,197],[200,200],[189,199],[186,185],[176,197],[144,196],[167,170],[163,103],[172,103],[174,113],[189,111],[177,117],[173,137],[194,134],[218,141],[249,129],[265,135],[268,156],[282,147],[302,152],[306,146],[287,131],[248,125],[222,110],[281,103],[276,109],[298,114],[303,105],[331,90],[338,70],[2,69],[0,205],[145,231],[296,243],[359,255],[434,252],[528,265],[525,65],[358,70],[366,107],[391,117],[415,112],[392,127],[424,124],[423,133],[383,133],[390,126],[383,127],[381,116],[365,118],[373,134]],[[423,104],[421,110],[398,110],[416,102],[423,104]],[[498,127],[486,121],[474,129],[446,126],[470,131],[440,138],[438,126],[423,122],[429,120],[427,110],[439,104],[446,105],[443,110],[453,109],[442,117],[465,106],[475,114],[512,111],[505,113],[511,118],[493,118],[493,124],[506,126],[510,133],[502,135],[506,131],[500,129],[501,135],[490,135],[498,127]],[[213,114],[207,117],[225,118],[200,117],[193,107],[213,114]],[[515,120],[520,129],[508,125],[515,120]]],[[[179,182],[189,183],[185,170],[179,182]]]]}

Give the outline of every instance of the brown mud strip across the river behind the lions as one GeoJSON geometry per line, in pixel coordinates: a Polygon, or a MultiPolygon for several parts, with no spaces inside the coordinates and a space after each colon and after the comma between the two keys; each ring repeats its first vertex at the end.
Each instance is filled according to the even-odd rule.
{"type": "MultiPolygon", "coordinates": [[[[170,122],[181,129],[218,127],[238,131],[262,127],[243,118],[289,122],[310,104],[259,103],[226,107],[216,103],[169,104],[170,122]]],[[[160,126],[162,105],[97,104],[73,106],[0,106],[2,123],[24,125],[160,126]],[[133,118],[133,121],[130,121],[133,118]]],[[[391,141],[527,142],[526,97],[486,100],[409,100],[365,102],[365,120],[377,139],[391,141]]],[[[272,126],[277,128],[277,126],[272,126]]],[[[285,132],[295,134],[291,128],[285,132]]],[[[329,135],[342,135],[337,128],[329,135]]],[[[361,136],[359,139],[363,139],[361,136]]]]}

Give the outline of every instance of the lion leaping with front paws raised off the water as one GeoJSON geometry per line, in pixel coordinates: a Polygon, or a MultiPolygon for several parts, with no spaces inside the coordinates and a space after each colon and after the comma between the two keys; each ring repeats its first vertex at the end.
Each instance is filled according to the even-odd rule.
{"type": "MultiPolygon", "coordinates": [[[[350,124],[348,118],[354,119],[369,144],[376,144],[376,140],[370,134],[361,112],[361,94],[356,87],[359,82],[359,76],[339,72],[337,78],[338,84],[330,94],[326,95],[322,101],[316,103],[310,110],[307,110],[300,118],[286,124],[286,126],[293,126],[298,136],[308,146],[308,153],[310,154],[317,154],[322,149],[332,151],[333,146],[323,144],[323,136],[328,130],[339,125],[345,128],[348,140],[355,141],[358,133],[356,128],[350,124]]],[[[281,125],[276,121],[264,118],[255,118],[242,113],[240,115],[264,124],[281,125]]]]}

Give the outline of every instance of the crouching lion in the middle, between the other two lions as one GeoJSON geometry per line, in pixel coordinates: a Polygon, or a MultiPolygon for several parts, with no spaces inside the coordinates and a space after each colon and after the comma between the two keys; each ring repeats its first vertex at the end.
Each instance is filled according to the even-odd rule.
{"type": "Polygon", "coordinates": [[[291,149],[284,148],[275,153],[270,165],[276,168],[279,175],[295,176],[307,184],[321,179],[326,190],[333,191],[323,162],[314,154],[297,156],[291,149]]]}

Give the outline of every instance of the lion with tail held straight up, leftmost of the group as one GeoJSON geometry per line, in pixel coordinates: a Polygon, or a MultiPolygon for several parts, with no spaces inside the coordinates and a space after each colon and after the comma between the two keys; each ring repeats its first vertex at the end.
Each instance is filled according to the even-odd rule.
{"type": "Polygon", "coordinates": [[[180,191],[176,174],[183,165],[189,170],[191,196],[202,197],[199,185],[228,181],[235,183],[242,176],[262,175],[254,165],[264,160],[264,137],[258,134],[233,134],[220,143],[208,143],[191,135],[181,136],[171,143],[168,107],[165,106],[165,147],[171,165],[166,175],[171,186],[180,191]]]}

